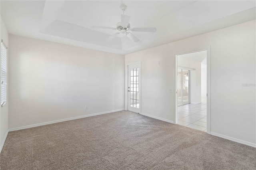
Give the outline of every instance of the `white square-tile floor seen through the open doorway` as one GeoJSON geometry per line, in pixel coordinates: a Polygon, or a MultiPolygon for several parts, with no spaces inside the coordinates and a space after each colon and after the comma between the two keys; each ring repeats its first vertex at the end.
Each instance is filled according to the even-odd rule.
{"type": "Polygon", "coordinates": [[[206,104],[188,104],[178,107],[178,124],[206,132],[206,104]]]}

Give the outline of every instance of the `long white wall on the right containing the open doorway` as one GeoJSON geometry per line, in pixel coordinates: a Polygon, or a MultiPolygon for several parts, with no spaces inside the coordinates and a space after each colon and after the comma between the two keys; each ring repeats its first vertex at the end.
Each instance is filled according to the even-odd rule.
{"type": "Polygon", "coordinates": [[[256,87],[242,86],[255,83],[255,27],[252,20],[126,55],[126,64],[141,61],[141,112],[175,122],[175,55],[210,46],[210,131],[256,146],[256,87]]]}

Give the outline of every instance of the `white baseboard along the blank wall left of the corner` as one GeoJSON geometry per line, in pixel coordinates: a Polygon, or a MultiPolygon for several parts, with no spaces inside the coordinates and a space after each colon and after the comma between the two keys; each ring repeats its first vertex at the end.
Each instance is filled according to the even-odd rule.
{"type": "Polygon", "coordinates": [[[28,125],[28,126],[24,126],[24,127],[10,128],[9,132],[16,131],[16,130],[22,130],[22,129],[26,129],[26,128],[50,125],[50,124],[53,124],[53,123],[60,123],[60,122],[64,122],[64,121],[72,121],[72,120],[75,120],[75,119],[81,119],[81,118],[91,117],[91,116],[96,116],[96,115],[103,115],[103,114],[106,114],[106,113],[113,113],[113,112],[118,112],[118,111],[123,111],[123,110],[124,109],[118,109],[118,110],[114,110],[114,111],[106,111],[106,112],[94,113],[94,114],[90,114],[90,115],[84,115],[84,116],[72,117],[72,118],[67,118],[67,119],[61,119],[61,120],[58,120],[58,121],[50,121],[50,122],[45,122],[45,123],[38,123],[38,124],[28,125]]]}

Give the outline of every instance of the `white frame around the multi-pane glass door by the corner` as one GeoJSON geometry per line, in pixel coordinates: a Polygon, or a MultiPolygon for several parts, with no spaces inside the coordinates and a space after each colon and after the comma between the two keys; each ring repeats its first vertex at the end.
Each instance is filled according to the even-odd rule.
{"type": "Polygon", "coordinates": [[[124,79],[124,110],[128,111],[128,66],[129,65],[134,65],[134,64],[139,64],[140,65],[140,107],[139,107],[139,113],[141,113],[141,107],[142,107],[142,102],[141,102],[141,85],[142,85],[142,70],[141,70],[141,61],[135,62],[135,63],[126,63],[125,64],[125,79],[124,79]]]}

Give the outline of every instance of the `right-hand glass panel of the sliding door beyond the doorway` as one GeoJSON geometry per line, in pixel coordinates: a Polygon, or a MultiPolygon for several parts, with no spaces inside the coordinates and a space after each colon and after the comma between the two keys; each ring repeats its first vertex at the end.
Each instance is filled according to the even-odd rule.
{"type": "Polygon", "coordinates": [[[189,103],[189,71],[182,69],[182,104],[189,103]]]}

